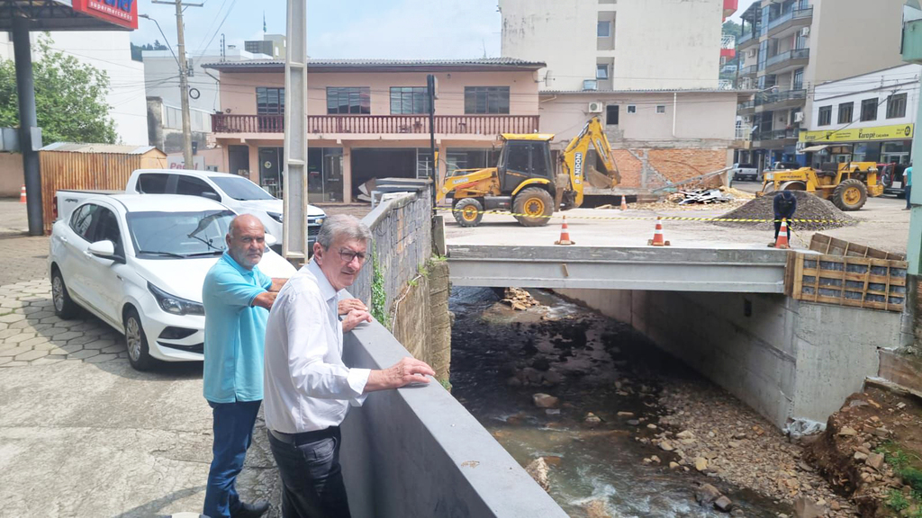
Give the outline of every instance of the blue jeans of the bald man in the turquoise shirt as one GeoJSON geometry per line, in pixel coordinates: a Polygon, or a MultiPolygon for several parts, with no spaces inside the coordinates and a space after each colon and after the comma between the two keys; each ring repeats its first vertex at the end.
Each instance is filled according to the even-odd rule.
{"type": "Polygon", "coordinates": [[[246,450],[253,442],[253,425],[262,401],[237,401],[212,403],[215,442],[211,451],[214,457],[208,471],[205,490],[205,510],[210,518],[230,518],[240,509],[240,496],[236,481],[243,469],[246,450]]]}

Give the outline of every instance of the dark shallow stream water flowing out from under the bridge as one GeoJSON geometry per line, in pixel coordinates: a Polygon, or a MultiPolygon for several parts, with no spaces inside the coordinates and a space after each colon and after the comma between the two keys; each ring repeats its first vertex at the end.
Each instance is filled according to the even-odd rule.
{"type": "Polygon", "coordinates": [[[745,516],[790,513],[752,491],[669,469],[670,453],[635,437],[661,431],[648,425],[665,412],[657,404],[663,380],[693,374],[627,324],[550,292],[532,295],[541,305],[514,311],[491,288],[452,289],[452,393],[519,464],[545,457],[550,496],[565,512],[727,516],[694,500],[694,489],[708,482],[745,516]],[[560,405],[538,408],[536,393],[560,405]],[[586,424],[588,412],[602,422],[586,424]],[[644,464],[651,455],[661,463],[644,464]]]}

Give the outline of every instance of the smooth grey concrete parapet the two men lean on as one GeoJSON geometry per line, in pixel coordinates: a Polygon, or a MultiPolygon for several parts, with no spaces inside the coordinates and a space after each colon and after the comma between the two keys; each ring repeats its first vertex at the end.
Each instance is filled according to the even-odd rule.
{"type": "MultiPolygon", "coordinates": [[[[345,337],[343,358],[352,367],[386,368],[407,355],[377,323],[345,337]]],[[[342,434],[356,518],[566,516],[438,383],[370,394],[349,411],[342,434]]]]}

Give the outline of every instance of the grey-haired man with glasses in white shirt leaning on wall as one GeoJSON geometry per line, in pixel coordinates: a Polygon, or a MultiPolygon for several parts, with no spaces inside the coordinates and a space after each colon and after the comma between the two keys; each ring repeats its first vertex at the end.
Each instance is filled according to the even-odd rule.
{"type": "Polygon", "coordinates": [[[429,383],[426,363],[401,359],[384,371],[349,369],[343,333],[372,316],[357,303],[340,323],[337,296],[365,263],[371,232],[356,218],[327,218],[313,260],[291,277],[266,324],[263,407],[282,478],[282,515],[349,517],[339,466],[339,424],[372,391],[429,383]]]}

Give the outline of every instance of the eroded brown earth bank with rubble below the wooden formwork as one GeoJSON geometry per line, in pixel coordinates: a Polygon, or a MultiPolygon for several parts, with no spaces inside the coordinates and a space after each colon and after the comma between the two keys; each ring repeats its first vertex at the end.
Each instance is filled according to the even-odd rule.
{"type": "Polygon", "coordinates": [[[920,412],[913,397],[877,388],[853,394],[807,458],[862,516],[922,516],[920,412]]]}

